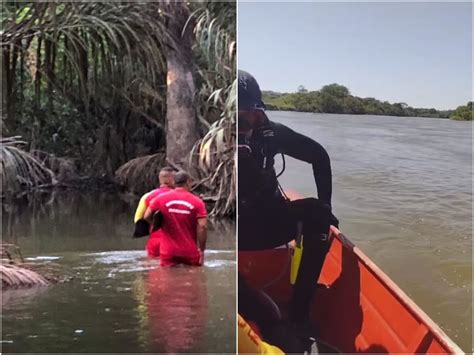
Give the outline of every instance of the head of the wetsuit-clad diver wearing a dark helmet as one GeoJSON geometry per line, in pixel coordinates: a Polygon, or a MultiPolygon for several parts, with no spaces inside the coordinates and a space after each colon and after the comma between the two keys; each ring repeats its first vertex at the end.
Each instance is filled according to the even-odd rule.
{"type": "Polygon", "coordinates": [[[246,71],[239,70],[239,133],[246,133],[263,126],[267,122],[266,106],[262,101],[262,92],[255,78],[246,71]]]}

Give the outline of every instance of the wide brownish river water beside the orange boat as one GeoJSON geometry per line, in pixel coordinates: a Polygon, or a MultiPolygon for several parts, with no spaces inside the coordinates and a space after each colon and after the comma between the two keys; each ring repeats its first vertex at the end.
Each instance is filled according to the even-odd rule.
{"type": "MultiPolygon", "coordinates": [[[[327,149],[341,230],[472,352],[472,122],[269,117],[327,149]]],[[[304,196],[316,194],[311,167],[288,157],[280,182],[304,196]]]]}

